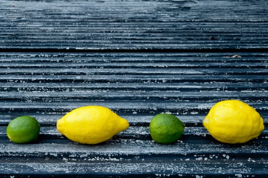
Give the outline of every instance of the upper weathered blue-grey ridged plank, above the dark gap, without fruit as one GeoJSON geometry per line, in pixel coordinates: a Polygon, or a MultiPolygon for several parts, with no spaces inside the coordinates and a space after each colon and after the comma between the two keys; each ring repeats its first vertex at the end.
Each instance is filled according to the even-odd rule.
{"type": "Polygon", "coordinates": [[[0,1],[0,49],[267,49],[261,1],[0,1]]]}

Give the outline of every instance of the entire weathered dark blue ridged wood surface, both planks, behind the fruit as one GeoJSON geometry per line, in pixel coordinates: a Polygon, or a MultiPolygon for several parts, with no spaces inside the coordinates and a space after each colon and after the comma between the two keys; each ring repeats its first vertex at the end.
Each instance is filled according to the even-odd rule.
{"type": "Polygon", "coordinates": [[[1,0],[0,176],[266,177],[267,9],[265,0],[1,0]],[[204,129],[225,99],[261,114],[257,139],[223,144],[204,129]],[[129,129],[98,145],[68,140],[56,121],[84,105],[111,108],[129,129]],[[186,124],[174,144],[151,139],[161,112],[186,124]],[[20,115],[40,122],[35,143],[9,141],[20,115]]]}

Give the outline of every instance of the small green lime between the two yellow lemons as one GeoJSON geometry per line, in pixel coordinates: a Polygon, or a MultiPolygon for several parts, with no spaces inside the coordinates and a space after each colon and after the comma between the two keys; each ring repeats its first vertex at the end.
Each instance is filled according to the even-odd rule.
{"type": "Polygon", "coordinates": [[[171,144],[180,139],[184,123],[172,114],[157,114],[150,123],[150,134],[153,140],[161,144],[171,144]]]}

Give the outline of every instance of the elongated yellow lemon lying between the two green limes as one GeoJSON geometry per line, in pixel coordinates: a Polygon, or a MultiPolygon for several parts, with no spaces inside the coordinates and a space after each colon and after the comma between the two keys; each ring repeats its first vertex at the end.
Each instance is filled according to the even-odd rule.
{"type": "Polygon", "coordinates": [[[58,132],[68,139],[85,144],[97,144],[126,130],[129,123],[107,107],[83,106],[57,121],[58,132]]]}

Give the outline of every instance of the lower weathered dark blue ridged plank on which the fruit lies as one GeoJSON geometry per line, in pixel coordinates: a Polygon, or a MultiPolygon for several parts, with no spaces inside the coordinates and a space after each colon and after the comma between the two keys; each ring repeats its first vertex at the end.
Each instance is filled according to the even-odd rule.
{"type": "Polygon", "coordinates": [[[0,53],[0,175],[73,177],[265,177],[268,174],[268,53],[0,53]],[[264,118],[245,144],[223,144],[202,126],[218,101],[239,99],[264,118]],[[130,127],[98,145],[77,144],[55,123],[84,105],[102,105],[130,127]],[[168,112],[185,124],[171,145],[154,142],[152,117],[168,112]],[[32,115],[41,135],[15,144],[16,116],[32,115]]]}

